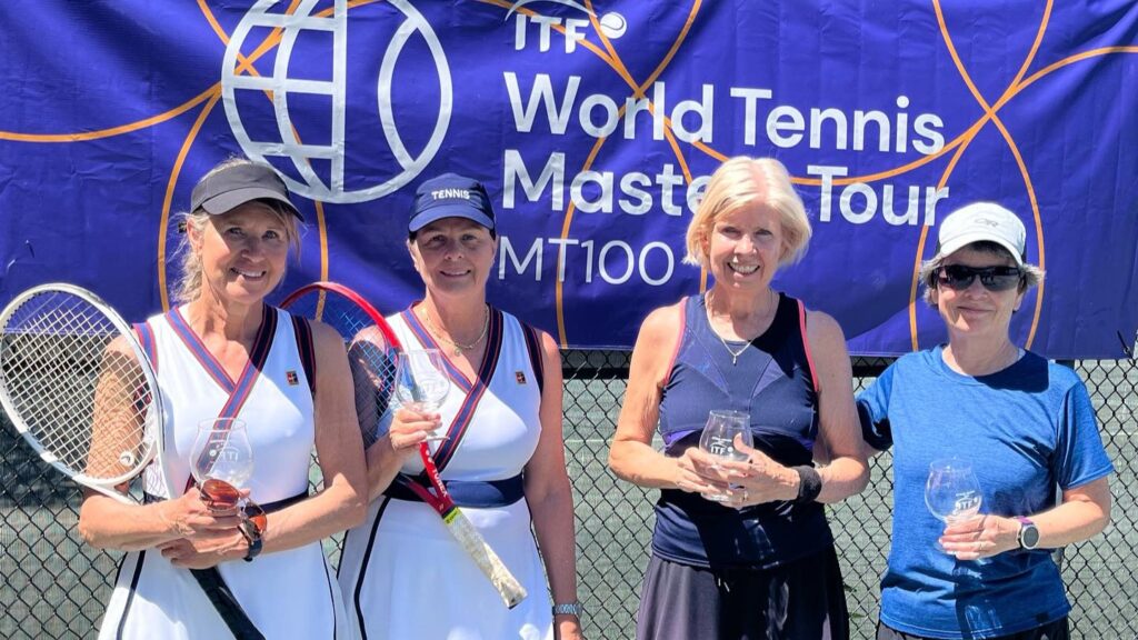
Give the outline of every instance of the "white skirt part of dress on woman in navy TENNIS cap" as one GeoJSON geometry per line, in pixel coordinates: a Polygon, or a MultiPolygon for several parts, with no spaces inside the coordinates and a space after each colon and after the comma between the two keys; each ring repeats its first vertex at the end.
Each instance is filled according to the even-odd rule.
{"type": "Polygon", "coordinates": [[[348,532],[339,582],[356,638],[552,640],[545,571],[526,500],[463,508],[528,596],[513,609],[421,502],[380,498],[348,532]]]}

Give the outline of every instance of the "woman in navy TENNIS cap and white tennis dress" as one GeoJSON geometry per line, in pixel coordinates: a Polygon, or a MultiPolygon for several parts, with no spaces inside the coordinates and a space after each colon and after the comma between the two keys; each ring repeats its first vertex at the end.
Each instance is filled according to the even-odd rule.
{"type": "Polygon", "coordinates": [[[426,295],[388,321],[405,350],[443,352],[451,389],[438,412],[398,408],[368,449],[373,502],[340,564],[349,617],[369,640],[579,639],[561,356],[549,335],[486,303],[497,252],[486,189],[453,173],[424,181],[407,251],[426,295]],[[422,470],[415,452],[436,427],[451,497],[529,593],[513,609],[438,514],[393,483],[422,470]]]}

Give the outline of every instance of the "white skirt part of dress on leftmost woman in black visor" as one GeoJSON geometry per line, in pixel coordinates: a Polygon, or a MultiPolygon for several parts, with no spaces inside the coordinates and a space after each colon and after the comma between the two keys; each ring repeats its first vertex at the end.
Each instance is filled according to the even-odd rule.
{"type": "MultiPolygon", "coordinates": [[[[265,553],[217,571],[266,640],[351,638],[345,610],[319,542],[265,553]]],[[[102,618],[99,640],[232,638],[189,569],[157,550],[127,553],[102,618]]]]}

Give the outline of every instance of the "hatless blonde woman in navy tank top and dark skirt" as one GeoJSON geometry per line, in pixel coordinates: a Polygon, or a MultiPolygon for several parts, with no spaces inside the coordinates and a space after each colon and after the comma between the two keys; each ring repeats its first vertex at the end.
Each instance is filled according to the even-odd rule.
{"type": "Polygon", "coordinates": [[[641,327],[609,458],[660,490],[637,639],[849,637],[823,511],[868,478],[846,339],[770,288],[809,238],[781,163],[727,161],[687,230],[685,262],[715,285],[641,327]],[[754,446],[736,438],[741,460],[699,448],[712,410],[748,417],[754,446]],[[816,449],[828,465],[815,468],[816,449]]]}

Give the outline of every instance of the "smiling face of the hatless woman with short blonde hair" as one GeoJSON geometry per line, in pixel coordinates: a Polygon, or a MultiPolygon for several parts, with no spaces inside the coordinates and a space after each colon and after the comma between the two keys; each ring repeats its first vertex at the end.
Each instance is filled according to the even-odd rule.
{"type": "Polygon", "coordinates": [[[716,285],[736,289],[770,286],[784,252],[778,211],[761,200],[719,215],[703,240],[716,285]]]}

